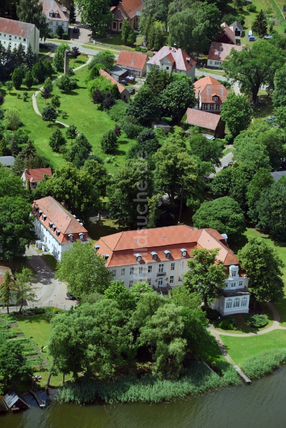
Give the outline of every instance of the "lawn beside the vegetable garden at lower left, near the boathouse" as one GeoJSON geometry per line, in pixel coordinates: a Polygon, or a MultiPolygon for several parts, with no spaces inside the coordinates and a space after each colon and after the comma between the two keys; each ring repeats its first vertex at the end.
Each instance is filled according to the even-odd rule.
{"type": "MultiPolygon", "coordinates": [[[[17,315],[15,318],[25,337],[30,339],[32,336],[39,349],[41,349],[41,346],[45,347],[48,344],[48,338],[51,333],[51,324],[45,321],[44,315],[34,315],[32,317],[17,315]]],[[[48,348],[43,350],[42,355],[43,357],[47,358],[49,363],[51,363],[52,357],[50,354],[48,354],[48,348]]],[[[44,387],[48,379],[48,370],[46,369],[45,372],[37,371],[35,374],[36,373],[42,376],[42,380],[37,382],[37,384],[40,384],[40,386],[44,387]]],[[[62,382],[62,378],[62,375],[52,376],[51,386],[59,386],[62,382]]],[[[71,377],[69,375],[66,376],[66,380],[70,378],[71,377]]]]}

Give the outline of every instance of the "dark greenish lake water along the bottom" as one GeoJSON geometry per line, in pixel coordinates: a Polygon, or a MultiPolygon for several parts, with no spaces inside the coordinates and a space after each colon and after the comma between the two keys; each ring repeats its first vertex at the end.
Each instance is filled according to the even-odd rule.
{"type": "Polygon", "coordinates": [[[88,405],[51,401],[0,416],[0,428],[286,428],[286,366],[250,386],[163,404],[88,405]]]}

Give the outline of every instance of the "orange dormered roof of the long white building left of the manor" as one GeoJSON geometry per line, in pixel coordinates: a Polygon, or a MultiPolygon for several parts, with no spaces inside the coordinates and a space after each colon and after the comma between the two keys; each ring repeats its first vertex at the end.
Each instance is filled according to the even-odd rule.
{"type": "Polygon", "coordinates": [[[46,196],[45,198],[34,201],[32,212],[61,244],[69,242],[69,234],[74,235],[73,241],[79,239],[79,233],[84,234],[84,239],[81,241],[90,241],[90,237],[88,236],[87,230],[84,226],[82,226],[82,224],[78,222],[69,211],[63,208],[63,206],[51,196],[46,196]],[[38,210],[35,210],[35,206],[39,207],[38,210]],[[39,211],[42,211],[40,215],[39,211]],[[46,215],[45,220],[42,220],[42,214],[46,215]],[[56,226],[54,231],[52,228],[49,228],[50,222],[56,226]],[[57,236],[57,230],[60,230],[59,236],[57,236]]]}

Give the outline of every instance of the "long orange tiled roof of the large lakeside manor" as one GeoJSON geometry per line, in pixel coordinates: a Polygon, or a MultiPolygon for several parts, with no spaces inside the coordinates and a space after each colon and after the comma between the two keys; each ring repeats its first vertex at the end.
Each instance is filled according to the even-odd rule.
{"type": "Polygon", "coordinates": [[[135,253],[141,254],[140,263],[156,263],[166,261],[164,250],[169,250],[171,255],[168,260],[189,259],[191,251],[196,247],[220,248],[218,259],[225,266],[238,264],[238,259],[226,245],[225,239],[214,229],[198,229],[186,225],[160,227],[147,229],[146,233],[137,231],[119,232],[114,235],[103,236],[96,245],[100,248],[100,255],[107,255],[107,267],[134,265],[135,253]],[[187,250],[187,255],[182,256],[181,248],[187,250]],[[151,251],[157,253],[157,259],[153,260],[151,251]]]}

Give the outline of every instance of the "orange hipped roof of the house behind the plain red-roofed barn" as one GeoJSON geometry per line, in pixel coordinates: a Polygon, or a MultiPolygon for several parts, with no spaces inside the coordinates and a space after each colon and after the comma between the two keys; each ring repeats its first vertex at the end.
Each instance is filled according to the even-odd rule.
{"type": "Polygon", "coordinates": [[[202,103],[221,104],[226,100],[229,95],[229,91],[213,77],[207,76],[197,80],[194,83],[196,92],[196,98],[199,98],[199,92],[201,92],[202,103]],[[213,95],[217,95],[218,100],[213,101],[213,95]]]}

